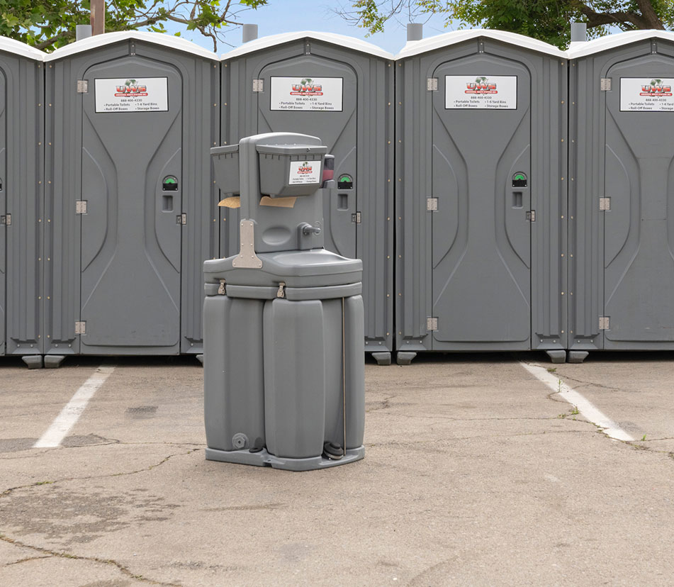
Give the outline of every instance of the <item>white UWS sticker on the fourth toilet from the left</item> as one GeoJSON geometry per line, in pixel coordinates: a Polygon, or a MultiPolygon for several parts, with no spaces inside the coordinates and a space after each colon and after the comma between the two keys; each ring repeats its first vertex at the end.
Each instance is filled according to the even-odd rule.
{"type": "Polygon", "coordinates": [[[516,75],[446,75],[444,77],[444,107],[516,110],[516,75]]]}

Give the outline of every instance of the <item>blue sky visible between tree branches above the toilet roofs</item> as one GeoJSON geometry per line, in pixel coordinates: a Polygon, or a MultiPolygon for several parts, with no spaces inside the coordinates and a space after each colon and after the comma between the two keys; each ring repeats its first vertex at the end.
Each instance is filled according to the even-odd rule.
{"type": "MultiPolygon", "coordinates": [[[[259,36],[290,33],[293,30],[320,30],[327,33],[339,33],[361,38],[379,45],[392,53],[397,53],[405,45],[405,25],[409,22],[407,14],[398,15],[398,18],[388,21],[383,33],[377,33],[366,38],[364,29],[353,26],[335,13],[335,6],[349,8],[349,0],[269,0],[269,6],[263,6],[257,10],[240,13],[239,18],[243,22],[257,24],[259,36]]],[[[427,21],[428,16],[417,18],[417,22],[427,21]]],[[[213,42],[205,38],[198,31],[185,31],[184,28],[167,26],[172,33],[181,30],[181,36],[198,45],[213,50],[213,42]]],[[[444,33],[451,28],[444,28],[444,18],[432,16],[424,26],[424,36],[430,37],[444,33]]],[[[218,53],[238,47],[241,44],[240,28],[232,29],[227,33],[227,42],[218,43],[218,53]]]]}

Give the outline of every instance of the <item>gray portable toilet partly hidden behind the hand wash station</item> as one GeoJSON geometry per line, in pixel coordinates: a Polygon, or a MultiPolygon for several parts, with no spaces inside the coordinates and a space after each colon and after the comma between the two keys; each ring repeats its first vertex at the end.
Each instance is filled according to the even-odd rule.
{"type": "MultiPolygon", "coordinates": [[[[335,155],[323,191],[325,247],[363,261],[365,350],[393,350],[393,55],[363,40],[300,31],[223,55],[223,144],[247,135],[319,136],[335,155]]],[[[239,211],[223,208],[223,257],[239,246],[239,211]]]]}

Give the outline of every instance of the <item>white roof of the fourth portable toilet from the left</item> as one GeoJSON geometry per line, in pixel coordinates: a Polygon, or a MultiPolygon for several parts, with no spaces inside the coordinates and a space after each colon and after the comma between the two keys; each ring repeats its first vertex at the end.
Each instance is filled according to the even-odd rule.
{"type": "Polygon", "coordinates": [[[537,51],[539,53],[547,53],[554,55],[554,57],[563,57],[566,59],[566,51],[558,49],[554,45],[544,43],[538,39],[532,39],[517,33],[506,33],[505,30],[493,30],[490,28],[471,28],[470,30],[452,30],[450,33],[443,33],[442,35],[435,35],[427,39],[408,41],[402,50],[395,55],[395,59],[405,59],[405,57],[412,57],[412,55],[419,55],[435,49],[442,49],[449,45],[456,45],[456,43],[463,43],[466,40],[471,40],[478,37],[485,37],[498,40],[501,43],[508,45],[516,45],[524,49],[537,51]]]}

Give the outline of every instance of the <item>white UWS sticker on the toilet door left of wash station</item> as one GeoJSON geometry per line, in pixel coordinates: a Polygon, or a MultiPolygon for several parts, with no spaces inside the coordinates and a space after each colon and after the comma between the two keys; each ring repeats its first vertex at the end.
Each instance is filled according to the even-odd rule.
{"type": "Polygon", "coordinates": [[[96,112],[166,112],[169,88],[166,77],[94,79],[96,112]]]}

